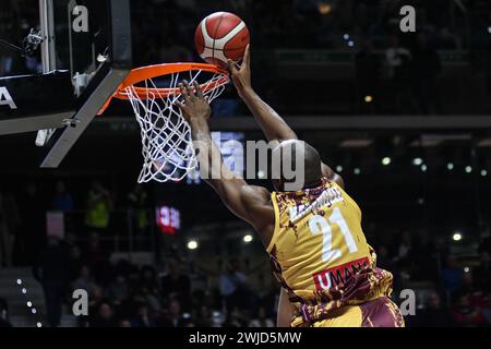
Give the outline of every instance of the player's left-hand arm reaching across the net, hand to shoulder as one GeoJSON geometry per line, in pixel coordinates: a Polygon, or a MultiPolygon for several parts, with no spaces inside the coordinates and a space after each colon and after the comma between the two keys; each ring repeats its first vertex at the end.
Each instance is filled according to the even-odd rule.
{"type": "Polygon", "coordinates": [[[211,107],[200,85],[180,85],[183,103],[177,103],[191,131],[203,179],[216,191],[224,204],[238,217],[251,224],[267,245],[275,225],[275,214],[270,192],[261,186],[249,185],[224,164],[220,151],[213,142],[208,121],[211,107]]]}

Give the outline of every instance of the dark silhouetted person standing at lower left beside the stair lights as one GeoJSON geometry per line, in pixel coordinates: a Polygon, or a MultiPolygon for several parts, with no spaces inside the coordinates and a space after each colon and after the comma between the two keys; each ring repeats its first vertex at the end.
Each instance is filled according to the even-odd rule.
{"type": "Polygon", "coordinates": [[[51,327],[60,325],[63,297],[70,279],[69,263],[67,246],[62,241],[51,237],[34,267],[34,276],[45,291],[47,317],[51,327]]]}

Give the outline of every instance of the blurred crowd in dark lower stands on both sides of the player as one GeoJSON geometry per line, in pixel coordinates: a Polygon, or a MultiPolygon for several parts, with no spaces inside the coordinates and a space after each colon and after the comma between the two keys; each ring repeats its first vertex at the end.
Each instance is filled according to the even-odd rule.
{"type": "MultiPolygon", "coordinates": [[[[115,195],[100,182],[94,181],[86,195],[84,229],[88,238],[82,240],[71,233],[46,237],[44,225],[36,220],[43,219],[46,212],[39,207],[46,204],[36,198],[35,186],[26,189],[31,196],[20,200],[17,213],[15,197],[5,191],[0,195],[0,261],[3,266],[33,266],[45,291],[45,315],[50,326],[59,326],[62,315],[71,312],[71,294],[80,289],[89,294],[89,315],[77,318],[77,325],[84,327],[274,326],[278,286],[264,281],[268,273],[264,255],[248,256],[263,261],[260,269],[251,268],[243,257],[205,269],[199,258],[179,250],[165,253],[161,262],[130,263],[125,257],[115,258],[115,251],[101,239],[115,195]],[[15,217],[23,225],[20,230],[31,233],[24,237],[24,243],[28,242],[32,250],[24,250],[24,254],[9,252],[12,245],[5,243],[12,239],[9,229],[15,229],[15,217]],[[258,284],[259,279],[263,281],[258,284]]],[[[128,205],[147,205],[142,193],[141,189],[130,191],[125,195],[128,205]]],[[[75,196],[59,181],[48,206],[70,212],[75,207],[75,196]]],[[[491,324],[489,238],[480,241],[475,252],[463,253],[455,251],[448,239],[424,229],[392,236],[369,230],[367,234],[378,252],[379,266],[394,274],[394,299],[402,301],[399,294],[405,289],[417,294],[416,316],[406,317],[409,326],[491,324]]],[[[19,242],[13,241],[13,245],[19,246],[19,242]]],[[[0,325],[7,325],[3,301],[0,315],[0,325]]]]}

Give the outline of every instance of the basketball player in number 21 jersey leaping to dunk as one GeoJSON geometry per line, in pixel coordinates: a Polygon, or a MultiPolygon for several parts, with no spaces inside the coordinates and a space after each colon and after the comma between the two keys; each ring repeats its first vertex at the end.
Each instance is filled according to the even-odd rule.
{"type": "Polygon", "coordinates": [[[304,176],[298,188],[291,191],[292,183],[282,172],[278,178],[283,180],[274,180],[276,192],[270,193],[249,185],[224,166],[209,134],[211,107],[197,83],[180,85],[183,100],[178,105],[200,143],[200,170],[213,178],[207,183],[232,213],[255,228],[271,255],[283,287],[278,326],[404,326],[398,308],[390,299],[393,276],[376,268],[375,254],[361,229],[360,208],[344,191],[342,178],[322,163],[312,146],[298,141],[253,92],[249,48],[240,70],[229,64],[239,95],[268,141],[276,144],[273,157],[294,163],[298,149],[303,152],[304,176]],[[291,156],[283,156],[286,154],[291,156]]]}

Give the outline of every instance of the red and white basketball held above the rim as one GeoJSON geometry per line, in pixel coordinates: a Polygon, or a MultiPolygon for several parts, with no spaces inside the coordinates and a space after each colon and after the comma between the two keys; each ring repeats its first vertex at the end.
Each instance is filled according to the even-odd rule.
{"type": "Polygon", "coordinates": [[[207,63],[226,68],[227,60],[238,62],[243,58],[250,41],[249,29],[237,15],[216,12],[200,23],[194,41],[207,63]]]}

